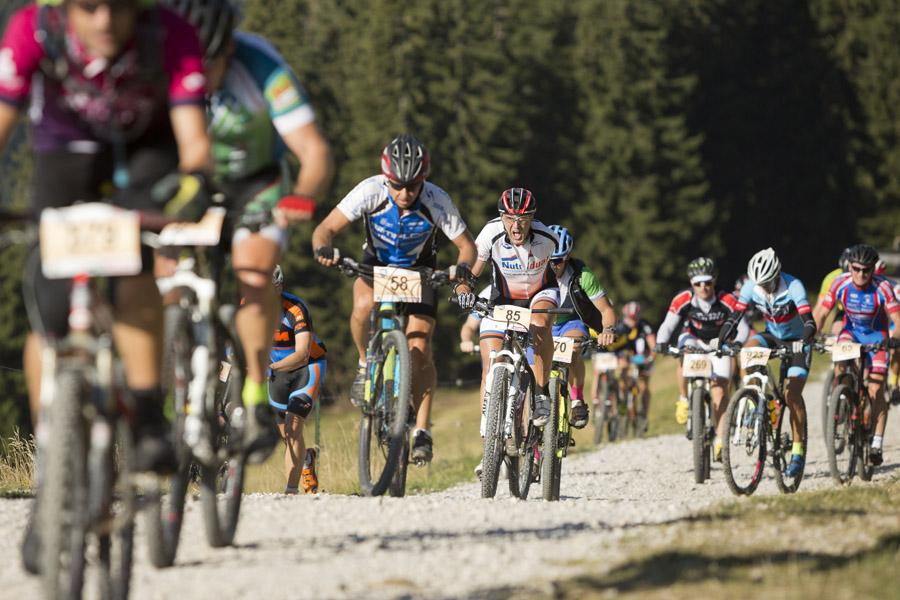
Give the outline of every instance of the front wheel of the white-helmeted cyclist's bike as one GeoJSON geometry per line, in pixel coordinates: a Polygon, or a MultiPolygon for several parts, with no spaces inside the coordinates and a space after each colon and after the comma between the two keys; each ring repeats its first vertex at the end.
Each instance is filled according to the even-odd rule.
{"type": "Polygon", "coordinates": [[[765,470],[768,420],[759,410],[764,401],[755,390],[743,387],[732,395],[725,411],[723,470],[729,489],[738,496],[755,492],[765,470]]]}

